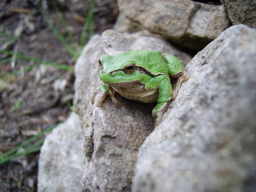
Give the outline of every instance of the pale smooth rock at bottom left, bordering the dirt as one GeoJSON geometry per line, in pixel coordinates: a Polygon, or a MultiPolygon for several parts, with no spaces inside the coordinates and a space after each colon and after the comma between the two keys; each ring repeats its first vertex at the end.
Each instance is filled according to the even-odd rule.
{"type": "Polygon", "coordinates": [[[75,113],[46,137],[39,158],[38,192],[82,190],[81,139],[81,122],[75,113]]]}

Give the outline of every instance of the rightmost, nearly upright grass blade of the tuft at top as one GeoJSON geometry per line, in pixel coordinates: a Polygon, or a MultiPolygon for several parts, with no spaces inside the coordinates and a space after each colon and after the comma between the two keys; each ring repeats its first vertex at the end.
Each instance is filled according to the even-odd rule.
{"type": "MultiPolygon", "coordinates": [[[[85,37],[86,37],[86,31],[88,29],[88,27],[90,26],[90,23],[93,22],[93,10],[95,7],[95,1],[94,0],[90,0],[90,10],[89,13],[86,16],[86,20],[85,20],[85,24],[83,26],[81,35],[80,35],[80,39],[79,39],[79,45],[82,47],[85,45],[85,37]]],[[[91,33],[90,33],[91,35],[91,33]]]]}

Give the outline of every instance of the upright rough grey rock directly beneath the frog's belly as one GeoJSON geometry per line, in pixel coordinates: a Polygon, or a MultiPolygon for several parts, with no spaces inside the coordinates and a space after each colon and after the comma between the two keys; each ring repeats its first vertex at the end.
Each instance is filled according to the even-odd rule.
{"type": "Polygon", "coordinates": [[[131,191],[138,149],[153,130],[152,108],[123,98],[118,100],[121,108],[108,98],[102,108],[93,110],[94,150],[83,176],[84,188],[92,192],[131,191]]]}

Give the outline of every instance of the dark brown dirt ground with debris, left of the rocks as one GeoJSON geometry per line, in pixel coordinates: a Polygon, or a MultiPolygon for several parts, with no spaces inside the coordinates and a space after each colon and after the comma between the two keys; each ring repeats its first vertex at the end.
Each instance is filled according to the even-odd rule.
{"type": "MultiPolygon", "coordinates": [[[[90,0],[40,1],[49,21],[72,46],[53,2],[79,45],[90,0]]],[[[118,15],[117,0],[96,0],[93,13],[94,33],[112,28],[118,15]]],[[[10,52],[71,67],[75,60],[43,19],[34,0],[1,0],[0,34],[0,51],[3,50],[0,52],[1,155],[42,130],[64,121],[71,111],[74,95],[72,71],[35,65],[38,64],[35,59],[13,56],[10,52]]],[[[85,42],[88,41],[89,30],[86,34],[85,42]]],[[[38,158],[39,152],[19,156],[0,165],[0,191],[36,191],[38,158]]]]}

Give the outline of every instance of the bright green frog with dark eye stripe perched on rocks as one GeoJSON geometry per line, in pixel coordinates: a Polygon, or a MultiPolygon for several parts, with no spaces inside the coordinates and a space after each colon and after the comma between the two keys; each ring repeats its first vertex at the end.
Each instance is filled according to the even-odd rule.
{"type": "Polygon", "coordinates": [[[159,50],[132,50],[111,56],[104,54],[98,61],[101,85],[92,94],[91,103],[102,107],[108,95],[121,107],[115,93],[143,103],[156,103],[152,110],[154,126],[177,97],[181,83],[189,76],[176,56],[162,55],[159,50]]]}

